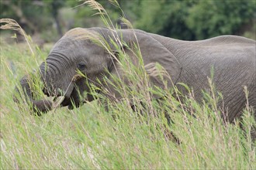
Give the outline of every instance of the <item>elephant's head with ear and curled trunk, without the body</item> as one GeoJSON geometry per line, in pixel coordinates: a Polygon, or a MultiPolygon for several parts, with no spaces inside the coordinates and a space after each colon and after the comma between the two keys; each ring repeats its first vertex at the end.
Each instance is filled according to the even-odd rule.
{"type": "MultiPolygon", "coordinates": [[[[119,70],[118,55],[115,53],[118,48],[131,57],[133,63],[137,63],[135,54],[126,48],[127,44],[134,43],[140,47],[145,70],[152,84],[164,87],[155,68],[159,63],[171,77],[167,80],[168,87],[171,87],[178,79],[181,66],[175,56],[147,32],[134,29],[76,28],[67,32],[54,45],[46,61],[40,65],[40,76],[44,83],[43,92],[47,96],[64,95],[61,103],[63,107],[72,108],[73,104],[79,107],[82,100],[80,94],[90,91],[88,83],[85,82],[98,86],[97,82],[109,76],[109,73],[123,73],[119,70]],[[112,41],[118,46],[114,46],[112,41]]],[[[41,111],[52,109],[53,103],[50,100],[33,99],[28,76],[24,76],[20,83],[23,93],[33,104],[33,108],[41,111]]],[[[114,93],[116,97],[120,96],[111,86],[106,85],[106,87],[109,93],[114,93]]],[[[100,88],[102,87],[99,86],[100,88]]],[[[88,93],[86,100],[93,99],[94,97],[88,93]]]]}

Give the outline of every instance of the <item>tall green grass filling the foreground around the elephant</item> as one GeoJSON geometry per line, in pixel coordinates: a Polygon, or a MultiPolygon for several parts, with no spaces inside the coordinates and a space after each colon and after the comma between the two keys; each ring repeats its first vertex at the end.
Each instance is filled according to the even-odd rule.
{"type": "MultiPolygon", "coordinates": [[[[103,10],[95,1],[87,3],[103,10]]],[[[100,16],[104,22],[110,22],[106,11],[100,16]]],[[[114,29],[110,23],[107,26],[114,29]]],[[[113,46],[121,42],[122,38],[112,39],[113,46]]],[[[134,48],[143,63],[139,46],[134,48]]],[[[0,50],[2,169],[256,168],[255,145],[250,136],[255,125],[251,108],[247,105],[244,109],[242,121],[223,121],[222,111],[215,107],[221,97],[214,88],[205,93],[203,103],[198,103],[185,85],[190,92],[186,97],[176,88],[152,87],[144,66],[134,66],[123,49],[118,49],[119,63],[130,84],[120,81],[119,76],[110,76],[111,80],[105,81],[114,82],[112,85],[122,100],[108,100],[96,94],[100,101],[74,110],[58,108],[36,117],[26,104],[17,107],[12,93],[19,78],[35,69],[49,49],[36,49],[33,54],[24,45],[1,41],[0,50]],[[164,94],[161,102],[152,100],[152,93],[164,94]],[[131,99],[136,109],[130,107],[131,99]],[[171,123],[166,117],[171,118],[171,123]]],[[[210,79],[209,83],[214,87],[210,79]]]]}

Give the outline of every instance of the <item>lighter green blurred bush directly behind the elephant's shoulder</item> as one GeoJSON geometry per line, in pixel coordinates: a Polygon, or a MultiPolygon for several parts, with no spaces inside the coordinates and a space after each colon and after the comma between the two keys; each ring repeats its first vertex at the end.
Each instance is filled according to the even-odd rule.
{"type": "Polygon", "coordinates": [[[190,1],[142,1],[138,5],[134,26],[147,32],[178,39],[195,39],[186,26],[190,1]]]}

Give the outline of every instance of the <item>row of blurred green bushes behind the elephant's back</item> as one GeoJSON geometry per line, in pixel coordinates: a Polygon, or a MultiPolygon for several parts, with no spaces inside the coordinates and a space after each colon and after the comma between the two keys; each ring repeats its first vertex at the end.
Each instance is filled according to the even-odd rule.
{"type": "Polygon", "coordinates": [[[141,1],[135,27],[178,39],[237,34],[255,19],[255,1],[141,1]]]}

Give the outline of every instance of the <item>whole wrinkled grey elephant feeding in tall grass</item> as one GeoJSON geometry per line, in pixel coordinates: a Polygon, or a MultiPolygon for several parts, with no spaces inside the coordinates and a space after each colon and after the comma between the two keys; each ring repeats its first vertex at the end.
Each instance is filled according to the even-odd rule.
{"type": "MultiPolygon", "coordinates": [[[[107,70],[112,74],[122,74],[116,60],[105,49],[88,39],[81,38],[90,32],[99,33],[107,42],[109,37],[113,38],[113,33],[109,29],[71,29],[55,44],[46,63],[40,66],[42,80],[46,84],[43,92],[48,96],[59,96],[66,92],[65,100],[61,104],[63,107],[72,108],[71,100],[78,107],[82,100],[79,98],[78,90],[80,93],[89,91],[85,78],[72,82],[72,77],[77,74],[77,70],[81,70],[91,82],[96,79],[102,80],[102,76],[108,75],[107,70]],[[78,88],[74,88],[75,86],[78,88]]],[[[160,63],[171,76],[172,83],[182,82],[189,85],[193,88],[195,97],[200,100],[202,90],[209,90],[207,77],[210,76],[210,70],[213,67],[213,83],[216,90],[223,94],[224,109],[227,110],[229,121],[239,117],[241,110],[245,107],[244,86],[247,86],[249,91],[249,104],[254,109],[256,108],[256,46],[254,40],[240,36],[218,36],[192,42],[140,30],[117,30],[117,35],[121,34],[128,44],[138,41],[145,68],[154,85],[164,86],[154,73],[155,63],[160,63]]],[[[112,48],[112,50],[116,49],[112,48]]],[[[124,50],[133,58],[133,53],[126,48],[124,50]]],[[[136,63],[136,59],[133,58],[133,61],[136,63]]],[[[42,111],[52,109],[50,100],[33,100],[27,76],[24,76],[20,83],[34,108],[42,111]]],[[[168,80],[169,87],[172,83],[168,80]]],[[[102,88],[109,89],[111,93],[119,97],[119,93],[110,85],[102,88]]],[[[178,88],[183,90],[182,87],[178,86],[178,88]]],[[[93,97],[88,95],[86,100],[91,101],[93,97]]],[[[219,107],[223,107],[222,102],[219,107]]]]}

